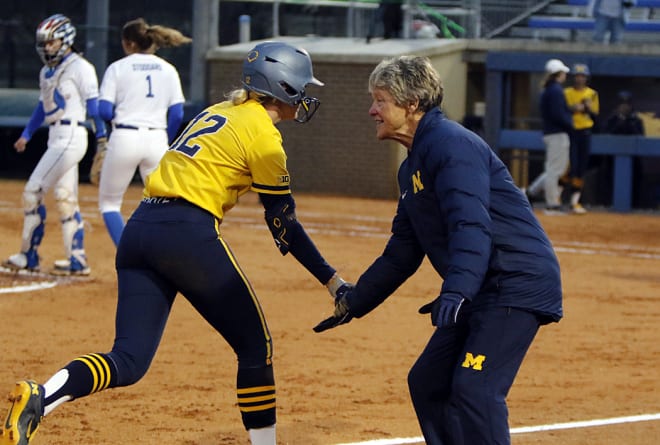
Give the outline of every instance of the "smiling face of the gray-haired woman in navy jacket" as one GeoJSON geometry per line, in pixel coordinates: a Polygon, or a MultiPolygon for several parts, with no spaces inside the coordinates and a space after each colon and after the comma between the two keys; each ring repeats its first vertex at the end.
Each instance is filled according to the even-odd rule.
{"type": "Polygon", "coordinates": [[[371,97],[369,115],[376,122],[376,137],[395,140],[410,149],[417,124],[424,115],[417,110],[417,103],[398,105],[390,92],[382,88],[374,88],[371,97]]]}

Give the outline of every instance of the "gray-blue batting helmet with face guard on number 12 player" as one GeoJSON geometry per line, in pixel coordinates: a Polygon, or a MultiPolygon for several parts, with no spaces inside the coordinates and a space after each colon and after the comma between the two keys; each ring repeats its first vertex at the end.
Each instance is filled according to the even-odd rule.
{"type": "Polygon", "coordinates": [[[263,42],[243,61],[243,86],[289,105],[299,105],[296,121],[309,121],[321,102],[305,95],[307,85],[323,86],[314,77],[307,51],[282,42],[263,42]]]}

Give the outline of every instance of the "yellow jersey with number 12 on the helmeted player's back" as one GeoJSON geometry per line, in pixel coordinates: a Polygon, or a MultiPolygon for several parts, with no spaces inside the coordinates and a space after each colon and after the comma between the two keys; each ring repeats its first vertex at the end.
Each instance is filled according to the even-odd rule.
{"type": "Polygon", "coordinates": [[[145,180],[144,197],[183,198],[222,220],[253,190],[288,194],[282,135],[256,100],[198,114],[145,180]]]}

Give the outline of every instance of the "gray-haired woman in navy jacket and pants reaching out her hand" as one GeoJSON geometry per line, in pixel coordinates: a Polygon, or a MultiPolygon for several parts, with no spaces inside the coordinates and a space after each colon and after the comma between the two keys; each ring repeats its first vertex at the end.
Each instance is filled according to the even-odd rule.
{"type": "Polygon", "coordinates": [[[314,330],[366,315],[427,257],[439,296],[420,313],[437,329],[408,375],[426,444],[508,444],[507,393],[539,327],[562,317],[552,245],[497,155],[442,113],[429,59],[381,62],[369,90],[376,137],[408,149],[392,235],[314,330]]]}

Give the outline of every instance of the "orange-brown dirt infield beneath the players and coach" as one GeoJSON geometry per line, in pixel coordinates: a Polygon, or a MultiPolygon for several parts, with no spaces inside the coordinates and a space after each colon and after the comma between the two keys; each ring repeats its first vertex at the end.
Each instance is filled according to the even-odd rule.
{"type": "MultiPolygon", "coordinates": [[[[1,183],[2,258],[19,247],[23,185],[1,183]]],[[[140,192],[138,186],[130,189],[125,214],[140,192]]],[[[296,200],[300,220],[345,278],[357,279],[381,253],[394,201],[296,200]]],[[[50,196],[47,206],[44,265],[62,252],[50,196]]],[[[0,274],[0,393],[16,379],[43,382],[72,358],[105,352],[112,344],[115,249],[91,185],[81,186],[81,207],[90,226],[89,279],[0,274]],[[9,289],[43,282],[54,284],[9,289]]],[[[659,413],[660,217],[589,213],[539,219],[561,262],[565,318],[542,328],[523,363],[509,395],[511,427],[659,413]]],[[[311,328],[330,313],[331,300],[293,258],[281,257],[253,194],[229,213],[223,234],[260,297],[274,338],[279,443],[419,437],[406,376],[432,330],[428,317],[417,314],[440,288],[430,265],[425,262],[368,316],[315,334],[311,328]]],[[[222,338],[179,298],[146,377],[59,407],[44,419],[34,443],[247,445],[236,407],[235,362],[222,338]]],[[[4,415],[4,405],[0,409],[4,415]]],[[[660,443],[660,420],[521,433],[512,441],[660,443]]]]}

